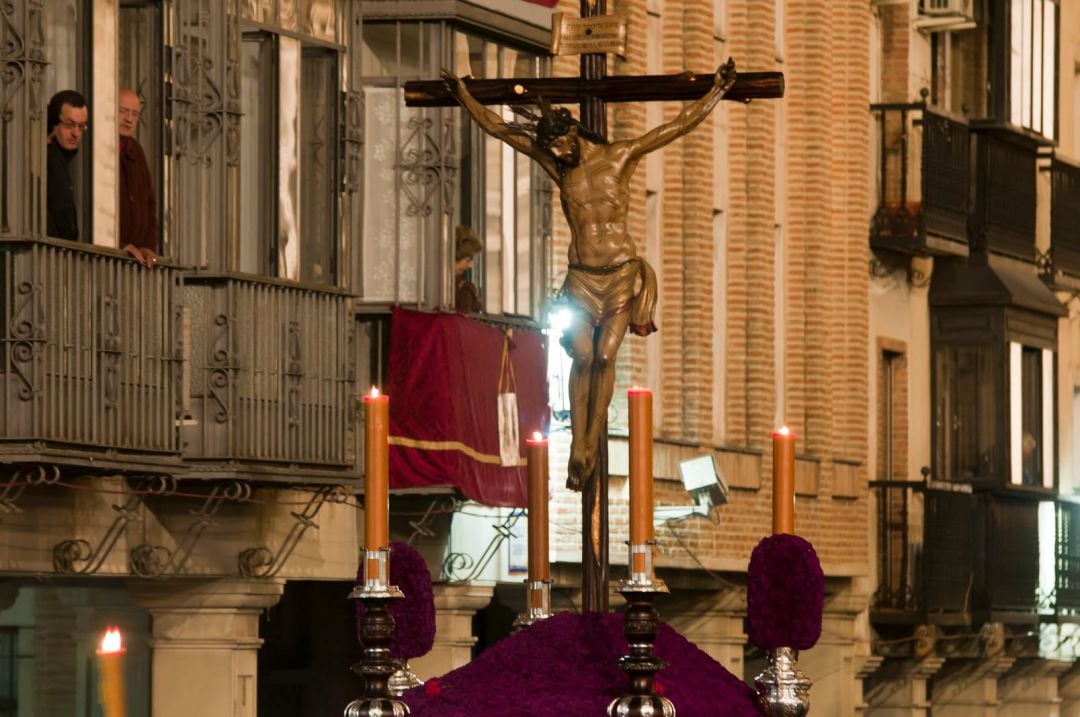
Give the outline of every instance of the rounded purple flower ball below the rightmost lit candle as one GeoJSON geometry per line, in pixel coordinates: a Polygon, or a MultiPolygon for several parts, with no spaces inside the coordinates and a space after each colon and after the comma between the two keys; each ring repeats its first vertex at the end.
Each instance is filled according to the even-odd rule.
{"type": "Polygon", "coordinates": [[[808,650],[821,637],[825,574],[813,545],[798,536],[769,536],[746,570],[750,639],[762,650],[808,650]]]}

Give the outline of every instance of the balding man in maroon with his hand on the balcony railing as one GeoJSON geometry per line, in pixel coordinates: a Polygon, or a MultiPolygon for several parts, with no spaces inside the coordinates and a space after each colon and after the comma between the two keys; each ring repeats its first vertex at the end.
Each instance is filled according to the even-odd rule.
{"type": "Polygon", "coordinates": [[[158,203],[141,145],[132,135],[143,102],[120,90],[120,246],[147,267],[158,262],[158,203]]]}

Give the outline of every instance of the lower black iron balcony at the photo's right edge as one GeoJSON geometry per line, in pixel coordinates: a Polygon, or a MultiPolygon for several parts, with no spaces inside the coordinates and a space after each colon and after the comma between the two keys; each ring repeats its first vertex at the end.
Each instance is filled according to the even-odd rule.
{"type": "Polygon", "coordinates": [[[877,625],[1037,623],[1080,614],[1080,502],[870,484],[877,501],[877,625]],[[963,516],[958,519],[957,516],[963,516]],[[1049,529],[1053,525],[1053,529],[1049,529]],[[1049,565],[1051,576],[1040,574],[1049,565]]]}

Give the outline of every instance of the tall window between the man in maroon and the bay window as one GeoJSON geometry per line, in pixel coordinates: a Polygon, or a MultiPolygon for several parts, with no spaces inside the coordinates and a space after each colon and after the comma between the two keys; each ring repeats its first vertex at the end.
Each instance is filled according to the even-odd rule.
{"type": "Polygon", "coordinates": [[[234,265],[245,273],[334,285],[339,50],[316,39],[254,25],[241,35],[234,265]]]}

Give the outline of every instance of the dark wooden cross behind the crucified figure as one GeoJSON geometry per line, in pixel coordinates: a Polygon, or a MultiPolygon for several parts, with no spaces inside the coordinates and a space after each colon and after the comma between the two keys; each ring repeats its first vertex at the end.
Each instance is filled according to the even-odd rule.
{"type": "MultiPolygon", "coordinates": [[[[581,17],[599,17],[606,0],[581,0],[581,17]]],[[[543,97],[552,104],[579,104],[580,122],[607,139],[607,103],[697,99],[713,87],[715,76],[644,75],[607,77],[603,53],[582,54],[577,78],[511,78],[465,80],[469,93],[484,105],[526,105],[543,97]]],[[[779,98],[784,95],[781,72],[740,72],[724,99],[779,98]]],[[[451,107],[458,103],[442,80],[405,83],[408,107],[451,107]]],[[[603,435],[607,435],[605,429],[603,435]]],[[[596,469],[581,492],[582,608],[608,610],[608,470],[607,442],[600,441],[596,469]]]]}

